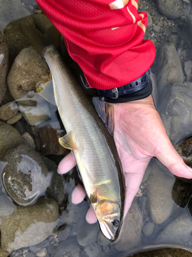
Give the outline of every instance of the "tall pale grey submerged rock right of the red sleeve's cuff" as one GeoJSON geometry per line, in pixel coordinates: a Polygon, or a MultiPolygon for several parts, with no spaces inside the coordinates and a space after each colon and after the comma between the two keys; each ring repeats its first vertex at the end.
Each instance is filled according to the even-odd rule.
{"type": "MultiPolygon", "coordinates": [[[[175,81],[182,83],[183,80],[183,71],[176,48],[172,44],[165,44],[159,53],[157,74],[159,94],[162,95],[162,91],[168,87],[168,83],[175,81]]],[[[163,96],[165,95],[163,94],[163,96]]]]}

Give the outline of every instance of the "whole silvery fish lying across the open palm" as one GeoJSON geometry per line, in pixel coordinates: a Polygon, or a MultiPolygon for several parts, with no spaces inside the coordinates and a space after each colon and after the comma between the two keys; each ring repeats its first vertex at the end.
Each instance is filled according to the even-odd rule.
{"type": "Polygon", "coordinates": [[[50,80],[39,83],[37,92],[57,106],[67,132],[59,143],[73,151],[101,232],[115,241],[123,222],[125,183],[115,141],[109,133],[114,131],[113,105],[106,103],[104,107],[111,124],[108,131],[62,60],[57,49],[60,32],[54,26],[46,34],[24,24],[19,26],[50,68],[50,80]]]}

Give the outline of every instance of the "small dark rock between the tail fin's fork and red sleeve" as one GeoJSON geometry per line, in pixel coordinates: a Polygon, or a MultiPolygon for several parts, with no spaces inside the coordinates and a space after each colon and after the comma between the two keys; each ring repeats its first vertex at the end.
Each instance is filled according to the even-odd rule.
{"type": "Polygon", "coordinates": [[[45,34],[48,29],[53,26],[48,17],[45,14],[32,14],[31,15],[35,27],[42,33],[45,34]]]}

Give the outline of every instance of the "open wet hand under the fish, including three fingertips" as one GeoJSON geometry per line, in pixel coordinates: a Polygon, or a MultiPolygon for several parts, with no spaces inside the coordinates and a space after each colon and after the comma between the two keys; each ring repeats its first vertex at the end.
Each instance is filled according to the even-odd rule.
{"type": "MultiPolygon", "coordinates": [[[[152,95],[141,100],[114,104],[114,140],[125,178],[124,217],[138,192],[148,162],[156,157],[178,177],[192,178],[192,169],[183,161],[170,142],[162,120],[156,111],[152,95]]],[[[71,152],[61,160],[58,173],[70,171],[76,165],[71,152]]],[[[74,204],[80,203],[86,191],[77,185],[72,193],[74,204]]],[[[86,215],[88,223],[97,221],[91,207],[86,215]]]]}

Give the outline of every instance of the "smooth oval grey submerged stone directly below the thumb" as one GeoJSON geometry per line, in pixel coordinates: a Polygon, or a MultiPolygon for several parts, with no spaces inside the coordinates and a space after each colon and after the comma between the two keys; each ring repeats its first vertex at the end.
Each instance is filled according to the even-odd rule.
{"type": "Polygon", "coordinates": [[[169,176],[160,163],[154,161],[152,170],[146,181],[147,207],[152,220],[161,224],[173,213],[177,205],[172,199],[175,177],[169,176]]]}

